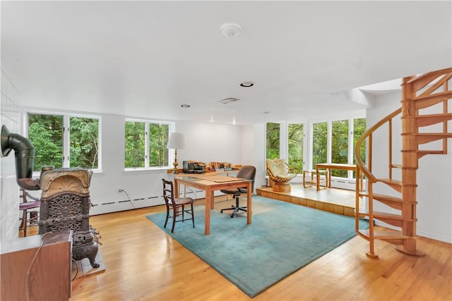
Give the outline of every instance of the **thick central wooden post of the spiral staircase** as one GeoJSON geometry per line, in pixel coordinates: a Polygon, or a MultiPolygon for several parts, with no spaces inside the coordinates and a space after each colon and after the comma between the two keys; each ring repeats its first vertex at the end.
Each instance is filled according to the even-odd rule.
{"type": "Polygon", "coordinates": [[[403,78],[402,99],[402,233],[407,236],[403,245],[396,247],[400,252],[416,255],[416,190],[417,190],[417,140],[412,134],[418,133],[415,118],[416,92],[412,89],[412,77],[403,78]]]}

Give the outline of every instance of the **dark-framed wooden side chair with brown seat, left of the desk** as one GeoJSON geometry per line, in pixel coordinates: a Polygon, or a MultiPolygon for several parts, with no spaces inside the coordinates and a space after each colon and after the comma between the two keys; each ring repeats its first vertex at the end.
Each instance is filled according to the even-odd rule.
{"type": "Polygon", "coordinates": [[[195,216],[193,211],[193,204],[195,202],[191,197],[174,197],[174,189],[172,181],[167,181],[162,179],[163,182],[163,198],[165,199],[165,204],[167,205],[167,217],[165,219],[165,226],[167,227],[168,219],[172,218],[171,232],[174,232],[174,225],[177,221],[189,221],[193,222],[193,228],[195,228],[195,216]],[[190,209],[185,209],[185,205],[190,205],[190,209]],[[179,211],[179,208],[182,208],[179,211]],[[172,209],[172,215],[169,211],[172,209]],[[185,214],[190,214],[191,218],[186,219],[185,214]],[[179,216],[179,217],[178,217],[179,216]]]}

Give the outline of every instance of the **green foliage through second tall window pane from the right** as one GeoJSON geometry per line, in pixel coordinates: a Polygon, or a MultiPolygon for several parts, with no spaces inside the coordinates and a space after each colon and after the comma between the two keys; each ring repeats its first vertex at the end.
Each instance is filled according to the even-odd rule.
{"type": "MultiPolygon", "coordinates": [[[[331,163],[348,164],[348,120],[333,121],[331,163]]],[[[347,171],[331,170],[331,176],[347,178],[347,171]]]]}

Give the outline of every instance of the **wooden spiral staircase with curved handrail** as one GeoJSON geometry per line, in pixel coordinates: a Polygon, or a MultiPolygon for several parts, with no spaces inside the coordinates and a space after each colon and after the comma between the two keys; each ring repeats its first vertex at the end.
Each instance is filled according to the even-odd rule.
{"type": "MultiPolygon", "coordinates": [[[[422,256],[422,252],[416,250],[416,190],[418,161],[427,154],[447,154],[447,140],[452,137],[448,130],[448,121],[452,120],[452,113],[448,108],[448,102],[452,99],[452,68],[436,70],[419,76],[403,78],[403,99],[401,108],[383,118],[379,123],[369,128],[357,141],[355,157],[357,160],[356,178],[367,178],[367,189],[362,191],[360,181],[356,187],[356,232],[362,238],[369,240],[369,252],[367,257],[378,258],[374,252],[374,240],[384,240],[396,245],[396,250],[405,254],[422,256]],[[427,109],[428,108],[428,109],[427,109]],[[423,110],[424,109],[424,110],[423,110]],[[424,111],[428,111],[424,113],[424,111]],[[432,113],[438,112],[438,113],[432,113]],[[393,122],[401,113],[402,149],[401,164],[393,163],[393,122]],[[383,126],[384,125],[384,126],[383,126]],[[427,132],[429,126],[434,127],[435,133],[427,132]],[[378,135],[377,130],[388,128],[388,178],[376,178],[372,173],[372,164],[386,164],[386,162],[372,162],[372,136],[378,135]],[[442,128],[442,130],[441,130],[442,128]],[[440,130],[438,130],[440,129],[440,130]],[[442,141],[442,143],[441,143],[442,141]],[[367,162],[365,165],[360,159],[359,150],[363,143],[367,147],[367,162]],[[433,145],[432,145],[433,143],[433,145]],[[422,145],[422,147],[420,147],[422,145]],[[426,149],[434,146],[434,149],[426,149]],[[442,145],[442,147],[441,147],[442,145]],[[397,173],[401,179],[395,179],[396,168],[401,168],[397,173]],[[388,185],[390,195],[374,193],[376,185],[388,185]],[[393,195],[398,195],[395,197],[393,195]],[[366,199],[367,208],[359,208],[359,200],[366,199]],[[386,213],[374,211],[374,204],[379,202],[380,207],[391,208],[386,213]],[[395,210],[394,210],[395,209],[395,210]],[[368,229],[359,229],[359,219],[369,219],[368,229]],[[388,231],[374,231],[374,221],[382,221],[399,229],[388,231]]],[[[450,106],[450,104],[449,104],[450,106]]],[[[400,122],[398,121],[398,122],[400,122]]],[[[430,127],[431,129],[432,127],[430,127]]],[[[430,130],[432,131],[432,130],[430,130]]],[[[381,134],[380,134],[381,135],[381,134]]],[[[381,145],[378,145],[381,152],[381,145]]],[[[374,149],[374,151],[376,151],[374,149]]],[[[386,176],[386,175],[385,175],[386,176]]],[[[380,186],[379,186],[380,187],[380,186]]],[[[386,190],[385,190],[386,189],[386,190]]]]}

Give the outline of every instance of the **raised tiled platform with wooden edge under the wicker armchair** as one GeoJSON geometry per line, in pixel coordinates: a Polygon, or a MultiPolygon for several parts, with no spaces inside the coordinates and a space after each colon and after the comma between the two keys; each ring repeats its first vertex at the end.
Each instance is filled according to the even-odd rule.
{"type": "MultiPolygon", "coordinates": [[[[256,188],[257,195],[280,199],[281,201],[300,204],[323,211],[355,216],[355,191],[328,188],[317,191],[316,188],[303,188],[303,185],[292,185],[291,192],[273,192],[273,188],[256,188]]],[[[364,199],[360,199],[359,207],[364,207],[364,199]]]]}

